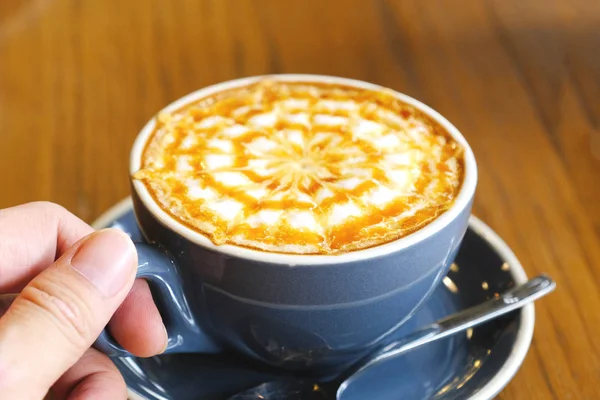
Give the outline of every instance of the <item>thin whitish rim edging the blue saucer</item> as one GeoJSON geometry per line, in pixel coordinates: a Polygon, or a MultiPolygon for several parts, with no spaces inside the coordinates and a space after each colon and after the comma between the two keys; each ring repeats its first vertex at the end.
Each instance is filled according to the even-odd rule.
{"type": "MultiPolygon", "coordinates": [[[[110,222],[118,219],[133,208],[131,197],[126,197],[112,206],[110,209],[102,213],[91,225],[94,229],[101,229],[110,224],[110,222]]],[[[489,242],[498,254],[510,266],[509,273],[513,276],[516,283],[521,284],[527,281],[527,274],[523,266],[508,247],[506,242],[490,228],[485,222],[471,215],[469,217],[469,227],[477,233],[477,235],[489,242]]],[[[531,346],[533,338],[533,330],[535,325],[535,306],[532,304],[526,305],[521,309],[521,323],[519,331],[515,338],[510,355],[494,375],[477,393],[469,397],[469,400],[488,400],[494,398],[515,376],[525,356],[531,346]]],[[[130,388],[127,388],[129,400],[149,400],[136,393],[130,388]]]]}

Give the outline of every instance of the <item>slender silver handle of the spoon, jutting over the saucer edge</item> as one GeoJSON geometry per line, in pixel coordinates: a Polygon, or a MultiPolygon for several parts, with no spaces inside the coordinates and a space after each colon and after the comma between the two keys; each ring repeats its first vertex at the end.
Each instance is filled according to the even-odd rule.
{"type": "Polygon", "coordinates": [[[358,373],[373,364],[396,357],[408,350],[450,336],[456,332],[467,330],[475,325],[514,311],[552,292],[555,287],[556,283],[549,276],[540,275],[532,278],[522,285],[509,289],[498,297],[441,319],[399,341],[379,349],[375,354],[368,356],[369,361],[358,363],[360,367],[352,373],[358,373]]]}

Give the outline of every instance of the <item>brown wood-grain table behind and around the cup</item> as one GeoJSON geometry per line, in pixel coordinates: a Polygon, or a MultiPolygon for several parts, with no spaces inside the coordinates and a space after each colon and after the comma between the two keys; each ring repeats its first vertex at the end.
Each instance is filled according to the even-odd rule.
{"type": "Polygon", "coordinates": [[[162,106],[277,72],[358,78],[450,119],[474,212],[559,289],[502,399],[600,398],[600,2],[1,0],[0,208],[92,221],[162,106]],[[596,327],[596,328],[594,328],[596,327]]]}

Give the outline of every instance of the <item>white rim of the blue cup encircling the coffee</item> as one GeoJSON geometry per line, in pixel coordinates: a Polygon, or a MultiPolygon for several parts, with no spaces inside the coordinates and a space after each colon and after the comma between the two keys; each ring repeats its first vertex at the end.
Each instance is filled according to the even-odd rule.
{"type": "Polygon", "coordinates": [[[132,188],[143,205],[162,225],[174,231],[178,235],[186,238],[192,243],[228,256],[272,264],[283,264],[287,266],[322,266],[355,262],[385,256],[410,247],[430,236],[435,235],[437,232],[450,224],[466,207],[469,206],[477,186],[477,163],[471,147],[460,131],[437,111],[408,95],[384,88],[380,85],[350,78],[313,74],[272,74],[234,79],[204,87],[175,100],[171,104],[164,107],[155,116],[153,116],[137,135],[130,153],[129,173],[132,181],[132,188]],[[237,87],[248,86],[265,78],[283,82],[331,83],[367,90],[388,90],[399,100],[427,114],[442,127],[444,127],[444,129],[458,143],[460,143],[464,149],[465,174],[461,189],[458,193],[458,196],[454,200],[454,204],[452,204],[448,210],[446,210],[442,215],[438,216],[434,221],[409,235],[378,246],[336,255],[274,253],[230,244],[215,245],[208,237],[194,231],[193,229],[177,221],[175,218],[171,217],[157,204],[154,198],[150,195],[146,185],[144,185],[141,181],[135,180],[131,177],[139,170],[141,166],[142,152],[149,136],[152,134],[156,126],[156,116],[161,112],[175,111],[188,103],[194,102],[211,94],[237,87]]]}

